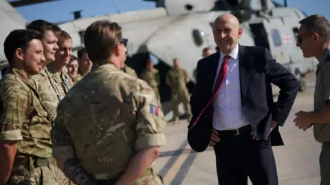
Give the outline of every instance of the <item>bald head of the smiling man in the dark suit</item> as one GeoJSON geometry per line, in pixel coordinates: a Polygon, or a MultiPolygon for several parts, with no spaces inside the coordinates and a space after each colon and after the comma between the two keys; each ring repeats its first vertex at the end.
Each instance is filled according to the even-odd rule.
{"type": "Polygon", "coordinates": [[[239,27],[239,19],[232,14],[221,14],[214,21],[214,41],[223,54],[229,54],[237,46],[243,33],[239,27]]]}

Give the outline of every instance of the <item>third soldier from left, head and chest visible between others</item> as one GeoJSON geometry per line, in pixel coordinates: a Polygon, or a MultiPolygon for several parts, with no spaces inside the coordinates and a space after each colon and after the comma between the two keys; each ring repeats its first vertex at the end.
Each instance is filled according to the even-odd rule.
{"type": "Polygon", "coordinates": [[[72,39],[71,36],[65,32],[61,31],[58,35],[58,50],[55,54],[55,61],[47,65],[48,71],[52,74],[54,79],[54,88],[58,91],[61,96],[61,100],[69,89],[74,85],[71,78],[65,73],[65,66],[69,63],[72,56],[72,39]]]}

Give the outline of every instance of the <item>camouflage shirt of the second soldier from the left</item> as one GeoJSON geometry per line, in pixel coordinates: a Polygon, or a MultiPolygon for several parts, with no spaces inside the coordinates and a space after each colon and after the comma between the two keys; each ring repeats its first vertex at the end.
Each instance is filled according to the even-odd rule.
{"type": "Polygon", "coordinates": [[[41,102],[54,122],[58,102],[65,96],[65,91],[63,91],[61,86],[57,85],[52,73],[47,67],[41,71],[41,74],[32,76],[30,82],[36,87],[41,102]]]}

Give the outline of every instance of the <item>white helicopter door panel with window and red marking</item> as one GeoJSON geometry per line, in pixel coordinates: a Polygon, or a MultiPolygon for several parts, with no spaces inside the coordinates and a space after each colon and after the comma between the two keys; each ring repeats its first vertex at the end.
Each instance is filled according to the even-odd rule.
{"type": "Polygon", "coordinates": [[[270,43],[270,52],[272,52],[273,58],[281,64],[290,63],[290,50],[287,50],[285,47],[288,42],[287,39],[285,39],[285,30],[283,30],[285,25],[283,25],[281,19],[263,21],[263,25],[267,32],[268,41],[270,43]]]}

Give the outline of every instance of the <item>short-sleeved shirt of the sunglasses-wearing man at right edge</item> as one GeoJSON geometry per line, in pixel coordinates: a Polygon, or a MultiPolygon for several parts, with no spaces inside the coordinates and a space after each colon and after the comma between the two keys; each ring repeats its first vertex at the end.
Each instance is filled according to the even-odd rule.
{"type": "MultiPolygon", "coordinates": [[[[330,96],[330,50],[324,51],[322,61],[316,71],[316,84],[314,91],[314,111],[325,107],[330,96]]],[[[314,137],[318,142],[330,141],[330,124],[314,123],[314,137]]]]}

